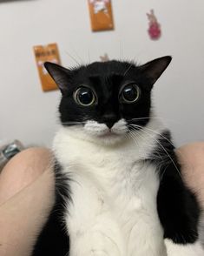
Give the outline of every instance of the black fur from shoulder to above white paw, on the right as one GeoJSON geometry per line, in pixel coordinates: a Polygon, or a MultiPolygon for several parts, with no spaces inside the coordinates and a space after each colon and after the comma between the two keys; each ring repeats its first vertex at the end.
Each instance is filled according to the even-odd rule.
{"type": "Polygon", "coordinates": [[[158,166],[161,179],[157,209],[164,238],[178,244],[194,243],[198,239],[201,209],[194,193],[182,180],[181,165],[174,153],[169,131],[158,136],[157,148],[149,158],[158,166]]]}

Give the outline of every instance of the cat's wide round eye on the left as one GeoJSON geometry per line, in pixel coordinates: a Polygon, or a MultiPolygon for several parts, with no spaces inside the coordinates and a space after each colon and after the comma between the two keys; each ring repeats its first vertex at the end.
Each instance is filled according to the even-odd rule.
{"type": "Polygon", "coordinates": [[[86,86],[79,87],[74,92],[74,99],[77,104],[81,104],[83,106],[89,106],[96,102],[94,91],[86,86]]]}

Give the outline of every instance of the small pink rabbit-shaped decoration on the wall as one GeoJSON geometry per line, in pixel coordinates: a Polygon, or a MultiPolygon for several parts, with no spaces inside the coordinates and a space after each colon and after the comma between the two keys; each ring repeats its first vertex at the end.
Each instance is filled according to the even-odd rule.
{"type": "Polygon", "coordinates": [[[148,35],[152,40],[157,40],[161,37],[161,25],[157,22],[154,10],[150,10],[147,16],[149,20],[148,35]]]}

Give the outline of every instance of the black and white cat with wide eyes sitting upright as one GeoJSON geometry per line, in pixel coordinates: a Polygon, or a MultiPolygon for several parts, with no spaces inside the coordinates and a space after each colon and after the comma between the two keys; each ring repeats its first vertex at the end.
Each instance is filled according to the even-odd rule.
{"type": "Polygon", "coordinates": [[[33,255],[204,255],[200,206],[151,108],[170,61],[45,64],[63,94],[62,127],[53,145],[56,205],[33,255]]]}

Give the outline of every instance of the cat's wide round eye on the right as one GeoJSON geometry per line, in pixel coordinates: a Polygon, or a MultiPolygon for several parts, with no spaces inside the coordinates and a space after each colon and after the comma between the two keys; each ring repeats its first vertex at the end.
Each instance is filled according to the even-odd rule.
{"type": "Polygon", "coordinates": [[[119,99],[122,103],[131,104],[140,98],[140,88],[136,84],[127,84],[122,88],[119,99]]]}

